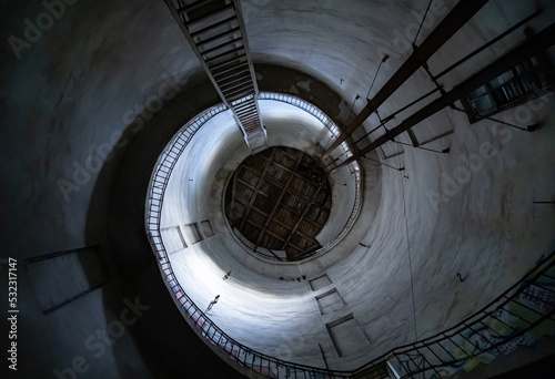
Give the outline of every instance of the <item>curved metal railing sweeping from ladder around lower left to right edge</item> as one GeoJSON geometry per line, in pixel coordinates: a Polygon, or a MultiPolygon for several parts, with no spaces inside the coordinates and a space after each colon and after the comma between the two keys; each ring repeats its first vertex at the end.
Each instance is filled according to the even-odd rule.
{"type": "Polygon", "coordinates": [[[392,370],[400,378],[413,378],[416,375],[418,378],[422,375],[426,378],[440,378],[464,368],[465,365],[475,365],[476,360],[491,360],[500,352],[509,351],[515,348],[515,340],[529,339],[527,336],[533,336],[536,327],[546,320],[553,321],[555,252],[487,306],[457,325],[435,336],[391,349],[353,371],[297,365],[250,349],[230,338],[206,317],[178,283],[160,233],[163,197],[176,161],[196,131],[212,116],[225,110],[226,106],[216,105],[201,113],[172,139],[169,144],[171,147],[162,153],[149,186],[145,227],[152,249],[159,257],[160,269],[165,274],[167,286],[173,291],[175,300],[193,320],[201,336],[241,367],[275,379],[379,379],[389,378],[387,372],[392,370]]]}

